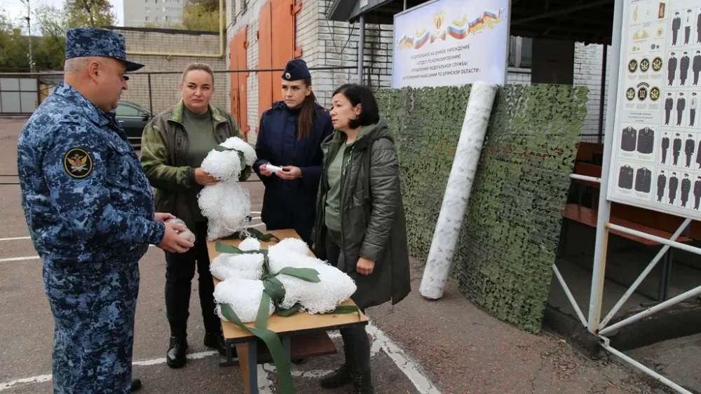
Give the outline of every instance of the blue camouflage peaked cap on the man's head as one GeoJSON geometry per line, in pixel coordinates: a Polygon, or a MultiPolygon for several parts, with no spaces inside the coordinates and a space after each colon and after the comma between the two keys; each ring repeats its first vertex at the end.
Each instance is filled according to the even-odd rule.
{"type": "Polygon", "coordinates": [[[136,71],[144,64],[127,60],[124,36],[111,30],[77,27],[66,32],[66,59],[103,56],[126,63],[126,71],[136,71]]]}

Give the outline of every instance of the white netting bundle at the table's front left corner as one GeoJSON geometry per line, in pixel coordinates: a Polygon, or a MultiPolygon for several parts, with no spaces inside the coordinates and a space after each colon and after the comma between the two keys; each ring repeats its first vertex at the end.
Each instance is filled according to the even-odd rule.
{"type": "MultiPolygon", "coordinates": [[[[243,323],[256,321],[258,307],[263,297],[263,282],[250,279],[229,278],[219,282],[215,287],[215,302],[229,304],[236,316],[243,323]]],[[[268,317],[275,311],[275,305],[270,302],[268,317]]],[[[222,307],[217,305],[217,314],[224,321],[229,321],[222,315],[222,307]]]]}

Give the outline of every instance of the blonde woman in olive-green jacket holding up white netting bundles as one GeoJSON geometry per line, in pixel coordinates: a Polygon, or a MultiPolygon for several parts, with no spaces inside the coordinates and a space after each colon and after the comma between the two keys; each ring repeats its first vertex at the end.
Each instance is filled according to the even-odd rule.
{"type": "MultiPolygon", "coordinates": [[[[165,310],[170,324],[166,362],[172,368],[185,364],[190,286],[198,272],[200,307],[205,325],[204,344],[224,355],[224,338],[215,314],[214,282],[207,252],[207,218],[200,211],[197,195],[217,179],[200,168],[212,149],[231,136],[243,139],[234,118],[212,106],[214,73],[210,66],[192,63],[180,82],[182,100],[149,122],[142,135],[141,163],[151,186],[156,207],[182,219],[195,234],[195,246],[187,253],[165,253],[165,310]]],[[[242,171],[241,179],[251,169],[242,171]]]]}

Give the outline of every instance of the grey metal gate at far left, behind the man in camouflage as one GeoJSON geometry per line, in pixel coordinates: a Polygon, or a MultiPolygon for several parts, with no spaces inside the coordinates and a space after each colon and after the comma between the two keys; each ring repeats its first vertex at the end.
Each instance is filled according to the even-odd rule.
{"type": "Polygon", "coordinates": [[[2,74],[0,115],[31,115],[39,106],[39,78],[2,74]]]}

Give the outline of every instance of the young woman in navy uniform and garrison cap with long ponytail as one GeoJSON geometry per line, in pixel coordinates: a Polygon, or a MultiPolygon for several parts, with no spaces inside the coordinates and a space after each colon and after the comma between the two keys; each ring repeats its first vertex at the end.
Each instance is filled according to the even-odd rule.
{"type": "Polygon", "coordinates": [[[266,230],[294,228],[307,244],[314,227],[321,177],[321,142],[333,131],[329,113],[316,104],[311,75],[302,59],[283,71],[284,101],[261,116],[253,164],[265,185],[261,220],[266,230]],[[271,171],[274,167],[280,171],[271,171]]]}

